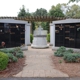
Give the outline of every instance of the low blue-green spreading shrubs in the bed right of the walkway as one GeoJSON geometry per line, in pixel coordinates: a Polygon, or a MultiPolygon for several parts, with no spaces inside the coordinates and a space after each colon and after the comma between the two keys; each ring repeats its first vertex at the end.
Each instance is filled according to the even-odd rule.
{"type": "Polygon", "coordinates": [[[54,55],[57,57],[63,57],[65,62],[80,62],[80,54],[74,53],[72,49],[66,50],[64,46],[61,46],[54,52],[54,55]]]}

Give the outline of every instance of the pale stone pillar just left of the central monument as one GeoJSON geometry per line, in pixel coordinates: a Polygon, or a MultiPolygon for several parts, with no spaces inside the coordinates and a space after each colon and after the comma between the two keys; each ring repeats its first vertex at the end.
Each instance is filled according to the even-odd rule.
{"type": "Polygon", "coordinates": [[[30,43],[30,26],[31,26],[31,23],[25,24],[25,45],[31,45],[31,43],[30,43]]]}

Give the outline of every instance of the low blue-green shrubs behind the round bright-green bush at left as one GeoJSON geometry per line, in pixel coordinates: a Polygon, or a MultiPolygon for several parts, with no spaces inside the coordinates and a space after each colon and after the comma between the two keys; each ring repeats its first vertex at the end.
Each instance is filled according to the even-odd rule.
{"type": "Polygon", "coordinates": [[[9,57],[9,62],[16,62],[18,58],[23,58],[23,51],[20,47],[16,47],[14,49],[2,49],[1,52],[6,52],[9,57]]]}

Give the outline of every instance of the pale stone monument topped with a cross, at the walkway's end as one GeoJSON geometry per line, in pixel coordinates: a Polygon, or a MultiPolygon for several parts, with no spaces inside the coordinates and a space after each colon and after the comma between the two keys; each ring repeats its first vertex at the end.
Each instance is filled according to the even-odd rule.
{"type": "Polygon", "coordinates": [[[48,48],[47,45],[47,31],[43,30],[41,26],[34,31],[33,43],[31,45],[32,48],[48,48]]]}

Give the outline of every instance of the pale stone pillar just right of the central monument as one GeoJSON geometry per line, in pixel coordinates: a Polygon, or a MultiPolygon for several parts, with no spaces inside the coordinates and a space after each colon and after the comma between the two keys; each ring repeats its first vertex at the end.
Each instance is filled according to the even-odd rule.
{"type": "Polygon", "coordinates": [[[50,23],[50,45],[55,45],[55,25],[50,23]]]}

